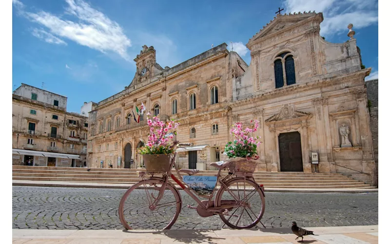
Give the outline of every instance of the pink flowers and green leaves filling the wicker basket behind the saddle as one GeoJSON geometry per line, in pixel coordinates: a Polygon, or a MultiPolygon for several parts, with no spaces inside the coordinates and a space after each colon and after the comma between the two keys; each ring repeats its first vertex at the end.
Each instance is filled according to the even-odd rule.
{"type": "Polygon", "coordinates": [[[259,156],[257,155],[257,146],[261,142],[256,142],[260,137],[250,137],[249,134],[257,131],[259,126],[258,121],[251,120],[251,123],[254,122],[254,128],[242,128],[242,122],[237,122],[232,125],[230,134],[234,135],[234,142],[228,142],[225,146],[225,152],[228,155],[229,159],[231,158],[246,158],[248,160],[254,159],[257,160],[259,156]]]}

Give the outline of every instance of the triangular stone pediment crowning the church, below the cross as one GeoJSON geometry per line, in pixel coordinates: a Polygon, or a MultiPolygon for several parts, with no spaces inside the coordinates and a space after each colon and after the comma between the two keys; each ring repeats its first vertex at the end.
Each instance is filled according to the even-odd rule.
{"type": "Polygon", "coordinates": [[[284,30],[290,30],[291,28],[294,28],[293,26],[300,26],[301,24],[304,24],[307,22],[307,20],[314,19],[315,17],[320,17],[320,21],[322,22],[323,17],[322,13],[316,14],[315,12],[304,13],[299,12],[298,14],[284,14],[284,15],[278,15],[273,20],[271,20],[267,25],[263,26],[263,28],[256,33],[248,42],[247,46],[251,45],[250,43],[262,39],[267,36],[271,36],[272,34],[276,32],[282,33],[284,30]]]}

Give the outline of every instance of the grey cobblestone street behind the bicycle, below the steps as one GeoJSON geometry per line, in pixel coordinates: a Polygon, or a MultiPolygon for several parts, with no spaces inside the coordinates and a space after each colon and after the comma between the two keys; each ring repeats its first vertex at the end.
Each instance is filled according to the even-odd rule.
{"type": "MultiPolygon", "coordinates": [[[[19,229],[123,229],[118,205],[125,190],[12,187],[12,227],[19,229]]],[[[219,216],[199,217],[195,201],[180,191],[181,213],[172,229],[217,229],[219,216]]],[[[262,223],[269,227],[378,224],[378,194],[267,193],[262,223]]],[[[140,203],[142,204],[142,203],[140,203]]],[[[258,226],[261,224],[258,224],[258,226]]],[[[226,227],[226,226],[225,226],[226,227]]]]}

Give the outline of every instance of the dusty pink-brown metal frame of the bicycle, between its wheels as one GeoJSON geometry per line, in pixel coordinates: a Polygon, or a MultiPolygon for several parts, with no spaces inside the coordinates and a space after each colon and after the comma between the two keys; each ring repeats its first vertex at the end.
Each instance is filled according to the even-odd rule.
{"type": "MultiPolygon", "coordinates": [[[[176,152],[175,152],[175,154],[174,154],[174,157],[172,158],[172,161],[171,161],[171,164],[170,164],[170,170],[167,172],[167,174],[165,174],[165,175],[163,175],[163,177],[161,178],[161,177],[151,177],[151,179],[160,179],[160,180],[162,180],[162,186],[161,186],[161,189],[160,189],[160,191],[159,191],[159,193],[158,193],[158,196],[156,197],[156,199],[155,199],[155,201],[153,202],[153,203],[151,203],[151,201],[148,199],[148,201],[149,201],[149,208],[150,209],[155,209],[156,208],[156,205],[159,203],[159,201],[161,200],[161,198],[163,197],[163,195],[164,195],[164,190],[165,190],[165,188],[166,188],[166,185],[167,185],[167,183],[168,183],[168,177],[171,177],[172,178],[172,180],[174,180],[191,198],[193,198],[195,201],[196,201],[196,203],[198,203],[199,205],[198,206],[200,206],[203,210],[205,210],[206,212],[208,212],[208,213],[215,213],[215,214],[221,214],[225,209],[227,209],[227,208],[234,208],[234,207],[236,207],[236,206],[238,206],[238,204],[237,203],[235,203],[234,201],[229,201],[229,202],[231,202],[231,204],[223,204],[223,205],[221,205],[221,206],[219,206],[219,207],[215,207],[214,206],[214,201],[213,201],[213,197],[214,197],[214,194],[215,194],[215,190],[216,190],[216,187],[214,187],[214,189],[213,189],[213,192],[212,192],[212,194],[210,195],[210,196],[199,196],[198,194],[194,194],[193,192],[192,192],[192,189],[191,189],[191,187],[189,187],[184,181],[183,181],[183,179],[182,179],[182,177],[181,177],[181,175],[180,175],[180,172],[179,172],[179,170],[177,169],[177,167],[176,167],[176,164],[175,164],[175,160],[176,160],[176,152]],[[177,173],[177,175],[178,175],[178,177],[179,177],[179,179],[180,180],[178,180],[177,178],[176,178],[176,176],[172,173],[172,168],[173,168],[173,166],[175,165],[175,170],[176,170],[176,173],[177,173]],[[184,183],[184,184],[183,184],[184,183]],[[187,186],[187,187],[186,187],[187,186]],[[205,201],[201,201],[200,199],[199,199],[199,197],[203,197],[203,198],[208,198],[208,201],[207,201],[207,203],[205,204],[204,202],[205,201]]],[[[221,169],[219,169],[218,170],[218,173],[217,173],[217,175],[216,175],[216,177],[217,177],[217,183],[220,183],[221,184],[221,186],[225,186],[226,187],[226,189],[227,189],[227,191],[233,196],[233,198],[234,198],[234,200],[235,201],[237,201],[237,202],[239,202],[240,200],[235,196],[235,194],[233,194],[233,192],[232,192],[232,190],[231,189],[229,189],[229,187],[225,184],[225,181],[228,179],[228,178],[225,178],[225,179],[223,179],[223,180],[221,180],[220,179],[220,176],[221,176],[221,169]]],[[[243,177],[244,178],[244,180],[246,179],[246,177],[244,176],[243,177]]],[[[145,179],[143,179],[143,180],[145,180],[145,179]]],[[[248,180],[248,181],[252,181],[252,180],[250,180],[250,179],[246,179],[246,180],[248,180]]],[[[215,186],[216,186],[216,184],[215,184],[215,186]]],[[[147,187],[146,187],[147,188],[147,187]]],[[[238,189],[237,189],[238,190],[238,189]]],[[[147,189],[146,189],[146,191],[147,191],[147,189]]],[[[263,193],[263,195],[264,195],[264,192],[263,192],[263,190],[262,190],[262,193],[263,193]]],[[[180,194],[179,194],[180,195],[180,194]]],[[[244,195],[245,195],[245,189],[244,189],[244,195]]],[[[192,207],[192,206],[189,206],[190,208],[196,208],[196,207],[192,207]]],[[[211,216],[211,215],[210,215],[211,216]]]]}

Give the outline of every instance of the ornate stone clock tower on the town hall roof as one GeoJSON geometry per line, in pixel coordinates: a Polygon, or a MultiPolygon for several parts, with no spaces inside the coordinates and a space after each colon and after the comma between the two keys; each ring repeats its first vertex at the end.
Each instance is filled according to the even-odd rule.
{"type": "Polygon", "coordinates": [[[130,86],[150,81],[164,70],[156,63],[156,49],[153,46],[143,45],[140,54],[137,55],[134,61],[136,61],[137,71],[130,86]]]}

